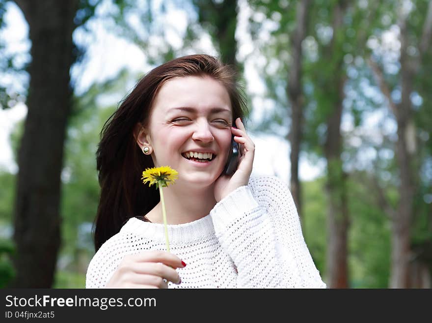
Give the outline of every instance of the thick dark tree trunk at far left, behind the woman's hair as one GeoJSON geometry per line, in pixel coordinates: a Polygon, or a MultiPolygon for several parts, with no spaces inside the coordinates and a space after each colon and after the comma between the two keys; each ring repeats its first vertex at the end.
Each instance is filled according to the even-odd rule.
{"type": "Polygon", "coordinates": [[[60,246],[60,173],[71,107],[73,19],[78,0],[16,0],[31,40],[28,113],[18,154],[11,287],[50,288],[60,246]]]}

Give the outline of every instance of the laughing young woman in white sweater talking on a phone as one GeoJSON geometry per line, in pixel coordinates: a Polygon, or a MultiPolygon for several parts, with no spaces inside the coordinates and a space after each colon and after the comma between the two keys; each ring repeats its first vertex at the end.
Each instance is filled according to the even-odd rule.
{"type": "Polygon", "coordinates": [[[108,119],[97,151],[101,197],[86,288],[325,288],[297,210],[276,177],[249,178],[254,144],[229,66],[208,55],[144,76],[108,119]],[[234,174],[224,173],[232,138],[234,174]],[[159,191],[142,171],[178,172],[159,191]]]}

